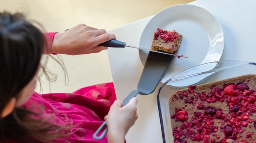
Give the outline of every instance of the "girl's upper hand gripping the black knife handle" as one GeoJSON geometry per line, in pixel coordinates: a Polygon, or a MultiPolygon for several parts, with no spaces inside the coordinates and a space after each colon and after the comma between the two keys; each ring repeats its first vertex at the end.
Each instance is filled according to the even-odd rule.
{"type": "Polygon", "coordinates": [[[98,45],[111,39],[116,39],[115,35],[104,29],[79,24],[54,36],[52,52],[69,55],[97,53],[108,49],[98,45]]]}

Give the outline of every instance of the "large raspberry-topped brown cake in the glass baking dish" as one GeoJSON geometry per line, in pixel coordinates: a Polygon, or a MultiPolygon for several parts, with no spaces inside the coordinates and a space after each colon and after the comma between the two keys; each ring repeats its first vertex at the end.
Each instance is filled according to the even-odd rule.
{"type": "Polygon", "coordinates": [[[256,143],[256,75],[249,74],[171,95],[174,143],[256,143]]]}

